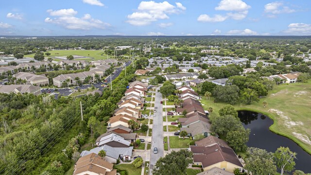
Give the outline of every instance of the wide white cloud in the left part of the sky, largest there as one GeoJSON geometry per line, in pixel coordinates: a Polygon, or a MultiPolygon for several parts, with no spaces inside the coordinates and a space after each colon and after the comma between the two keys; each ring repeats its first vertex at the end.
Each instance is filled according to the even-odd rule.
{"type": "Polygon", "coordinates": [[[77,18],[72,14],[77,14],[77,11],[73,9],[62,9],[57,11],[48,10],[51,16],[60,16],[58,18],[45,18],[45,22],[53,23],[60,26],[63,26],[67,29],[73,30],[91,30],[96,29],[105,29],[106,27],[111,26],[108,23],[105,23],[99,19],[94,19],[89,14],[85,14],[82,18],[77,18]]]}

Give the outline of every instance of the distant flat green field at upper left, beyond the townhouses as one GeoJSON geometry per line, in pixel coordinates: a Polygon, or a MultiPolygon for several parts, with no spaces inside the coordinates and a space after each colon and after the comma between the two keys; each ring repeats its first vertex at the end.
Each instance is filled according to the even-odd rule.
{"type": "MultiPolygon", "coordinates": [[[[47,53],[47,52],[45,52],[45,53],[47,53]]],[[[89,58],[81,58],[80,59],[80,60],[86,60],[86,61],[107,59],[107,55],[104,54],[104,51],[55,50],[55,51],[48,51],[48,53],[51,53],[51,55],[49,57],[52,57],[52,58],[55,57],[55,56],[79,55],[79,56],[87,56],[87,57],[89,57],[89,58]],[[58,54],[55,54],[55,53],[58,53],[58,54]]],[[[35,53],[24,55],[24,56],[33,58],[35,56],[35,53]]],[[[112,58],[112,57],[113,56],[108,56],[108,58],[112,58]]],[[[55,61],[58,61],[58,60],[59,59],[55,59],[55,61]]],[[[79,60],[79,59],[76,59],[76,60],[79,60]]]]}

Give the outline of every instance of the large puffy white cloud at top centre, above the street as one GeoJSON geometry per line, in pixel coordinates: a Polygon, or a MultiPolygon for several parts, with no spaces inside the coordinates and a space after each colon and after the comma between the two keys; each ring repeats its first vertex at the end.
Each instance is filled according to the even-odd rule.
{"type": "Polygon", "coordinates": [[[126,22],[136,26],[148,25],[158,19],[168,19],[170,18],[168,15],[179,14],[184,10],[186,7],[179,2],[176,2],[174,6],[167,1],[141,1],[138,5],[138,12],[128,15],[126,22]]]}

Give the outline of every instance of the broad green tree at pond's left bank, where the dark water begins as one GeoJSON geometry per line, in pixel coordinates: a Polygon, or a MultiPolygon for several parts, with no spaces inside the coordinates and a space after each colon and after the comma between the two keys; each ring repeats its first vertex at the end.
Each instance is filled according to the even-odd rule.
{"type": "Polygon", "coordinates": [[[221,135],[226,135],[230,131],[243,127],[240,120],[231,115],[210,117],[210,121],[210,129],[221,135]]]}

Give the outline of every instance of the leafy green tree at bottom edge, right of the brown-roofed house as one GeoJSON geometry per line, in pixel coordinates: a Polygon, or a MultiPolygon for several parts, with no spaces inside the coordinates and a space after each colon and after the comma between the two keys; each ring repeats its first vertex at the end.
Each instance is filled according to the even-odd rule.
{"type": "Polygon", "coordinates": [[[274,175],[276,173],[272,153],[268,153],[264,149],[247,148],[245,161],[244,168],[253,175],[274,175]]]}

